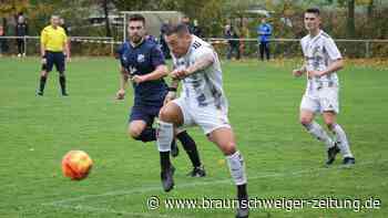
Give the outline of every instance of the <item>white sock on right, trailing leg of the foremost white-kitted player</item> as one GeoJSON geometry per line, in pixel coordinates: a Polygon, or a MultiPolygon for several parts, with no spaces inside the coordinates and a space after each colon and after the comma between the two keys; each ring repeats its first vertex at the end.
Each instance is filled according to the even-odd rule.
{"type": "Polygon", "coordinates": [[[237,150],[233,155],[226,156],[226,160],[234,183],[237,186],[246,184],[244,158],[239,152],[237,150]]]}

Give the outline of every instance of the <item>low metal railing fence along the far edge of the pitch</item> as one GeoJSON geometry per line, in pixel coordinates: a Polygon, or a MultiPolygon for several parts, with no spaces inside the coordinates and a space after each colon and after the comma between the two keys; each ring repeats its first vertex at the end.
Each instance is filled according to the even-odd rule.
{"type": "MultiPolygon", "coordinates": [[[[17,54],[16,39],[23,40],[27,55],[39,55],[39,37],[0,37],[1,43],[7,43],[8,54],[17,54]]],[[[71,50],[75,55],[112,55],[114,48],[121,44],[113,38],[104,37],[71,37],[71,50]]],[[[206,38],[221,56],[226,56],[228,49],[224,38],[206,38]]],[[[236,39],[241,43],[242,58],[258,58],[257,39],[236,39]]],[[[335,39],[335,42],[344,56],[349,58],[388,58],[388,40],[349,40],[335,39]]],[[[1,44],[0,44],[1,46],[1,44]]],[[[269,41],[272,58],[294,58],[302,55],[299,39],[272,39],[269,41]]],[[[4,53],[4,52],[3,52],[4,53]]]]}

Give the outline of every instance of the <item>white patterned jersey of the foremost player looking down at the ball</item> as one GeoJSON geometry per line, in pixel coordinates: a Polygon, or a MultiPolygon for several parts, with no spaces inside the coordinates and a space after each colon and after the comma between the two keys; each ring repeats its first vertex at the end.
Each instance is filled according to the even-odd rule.
{"type": "Polygon", "coordinates": [[[210,43],[192,34],[192,43],[187,53],[178,59],[172,54],[174,69],[188,68],[205,54],[213,56],[213,64],[182,80],[181,97],[195,106],[214,105],[225,110],[227,101],[223,91],[221,63],[217,53],[210,43]]]}

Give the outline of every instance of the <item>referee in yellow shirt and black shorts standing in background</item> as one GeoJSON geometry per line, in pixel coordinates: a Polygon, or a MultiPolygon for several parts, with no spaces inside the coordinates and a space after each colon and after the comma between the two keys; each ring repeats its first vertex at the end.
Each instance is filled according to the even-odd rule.
{"type": "Polygon", "coordinates": [[[60,27],[60,18],[51,15],[51,24],[45,27],[41,32],[41,55],[42,55],[42,71],[40,75],[40,85],[38,95],[42,96],[44,85],[49,72],[55,65],[59,72],[59,81],[61,85],[62,96],[68,96],[65,90],[64,61],[70,61],[70,49],[68,43],[68,35],[63,28],[60,27]]]}

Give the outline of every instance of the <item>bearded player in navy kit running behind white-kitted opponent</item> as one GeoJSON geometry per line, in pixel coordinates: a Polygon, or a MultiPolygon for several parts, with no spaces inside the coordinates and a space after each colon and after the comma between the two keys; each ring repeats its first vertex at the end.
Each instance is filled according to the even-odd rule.
{"type": "MultiPolygon", "coordinates": [[[[169,86],[163,80],[169,69],[159,44],[145,35],[143,15],[131,15],[127,31],[130,40],[124,42],[116,52],[116,58],[120,58],[121,61],[121,83],[116,97],[118,100],[124,98],[126,82],[131,80],[134,89],[134,104],[127,132],[134,139],[146,143],[156,141],[156,129],[152,127],[152,124],[159,116],[169,93],[169,86]]],[[[201,164],[194,139],[183,129],[176,133],[176,138],[182,143],[193,164],[193,170],[188,175],[204,177],[205,169],[201,164]]],[[[171,146],[176,147],[175,142],[172,142],[171,146]]],[[[160,152],[160,155],[163,160],[166,158],[162,156],[169,153],[160,152]]],[[[176,155],[177,152],[173,156],[176,155]]]]}

